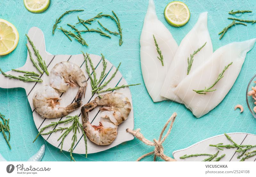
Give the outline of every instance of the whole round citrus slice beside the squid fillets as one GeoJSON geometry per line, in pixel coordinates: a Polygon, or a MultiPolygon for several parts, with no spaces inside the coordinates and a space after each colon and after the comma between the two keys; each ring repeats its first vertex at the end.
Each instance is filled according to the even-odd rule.
{"type": "Polygon", "coordinates": [[[172,26],[184,26],[190,18],[188,6],[182,2],[173,1],[165,7],[164,18],[172,26]]]}

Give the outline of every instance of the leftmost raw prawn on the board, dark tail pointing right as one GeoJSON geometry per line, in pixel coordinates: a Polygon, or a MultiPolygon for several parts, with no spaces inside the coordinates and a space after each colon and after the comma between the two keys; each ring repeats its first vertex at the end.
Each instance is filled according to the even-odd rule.
{"type": "Polygon", "coordinates": [[[49,85],[45,85],[43,89],[37,90],[33,96],[33,105],[38,114],[44,118],[57,118],[68,115],[70,112],[79,108],[83,102],[72,103],[65,107],[57,107],[56,104],[61,98],[57,90],[49,85]]]}

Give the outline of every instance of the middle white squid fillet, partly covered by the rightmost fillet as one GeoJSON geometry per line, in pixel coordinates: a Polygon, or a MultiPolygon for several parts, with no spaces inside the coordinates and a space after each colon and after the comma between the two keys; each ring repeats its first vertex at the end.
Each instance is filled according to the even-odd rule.
{"type": "Polygon", "coordinates": [[[201,13],[196,25],[182,39],[165,77],[160,93],[161,96],[181,103],[180,98],[173,93],[173,88],[177,87],[177,85],[187,77],[188,57],[190,59],[190,54],[203,46],[206,42],[206,45],[194,55],[194,61],[189,72],[189,74],[191,74],[212,55],[212,40],[207,28],[207,14],[208,12],[201,13]]]}

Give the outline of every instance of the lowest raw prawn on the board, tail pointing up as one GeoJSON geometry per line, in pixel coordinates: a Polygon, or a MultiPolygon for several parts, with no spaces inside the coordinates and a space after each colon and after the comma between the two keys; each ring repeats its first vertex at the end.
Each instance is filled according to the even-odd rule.
{"type": "Polygon", "coordinates": [[[100,118],[98,126],[92,125],[89,122],[88,112],[85,107],[81,109],[83,129],[87,137],[96,145],[109,145],[115,140],[117,135],[117,126],[107,119],[100,118]]]}

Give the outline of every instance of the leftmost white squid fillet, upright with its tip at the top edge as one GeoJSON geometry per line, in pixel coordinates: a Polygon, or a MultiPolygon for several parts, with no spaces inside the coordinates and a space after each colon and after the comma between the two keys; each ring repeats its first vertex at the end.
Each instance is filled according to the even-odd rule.
{"type": "Polygon", "coordinates": [[[154,1],[149,0],[140,36],[140,62],[144,83],[154,102],[164,100],[164,97],[160,96],[160,91],[177,49],[178,45],[172,34],[156,16],[154,1]],[[153,34],[164,56],[164,66],[157,58],[159,55],[156,51],[153,34]]]}

